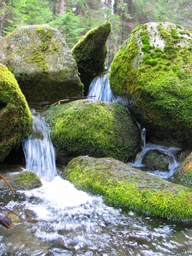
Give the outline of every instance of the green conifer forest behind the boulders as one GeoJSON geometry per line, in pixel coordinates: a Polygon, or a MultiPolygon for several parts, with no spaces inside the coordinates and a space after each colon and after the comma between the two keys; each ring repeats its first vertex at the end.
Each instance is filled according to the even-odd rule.
{"type": "Polygon", "coordinates": [[[191,29],[192,0],[0,0],[0,36],[26,24],[49,24],[72,47],[106,21],[112,31],[106,65],[138,24],[172,22],[191,29]]]}

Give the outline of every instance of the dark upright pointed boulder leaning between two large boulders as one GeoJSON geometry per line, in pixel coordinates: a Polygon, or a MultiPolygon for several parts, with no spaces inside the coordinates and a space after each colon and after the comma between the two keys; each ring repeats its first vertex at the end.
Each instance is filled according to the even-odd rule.
{"type": "Polygon", "coordinates": [[[77,62],[85,94],[91,81],[104,71],[106,61],[106,40],[111,33],[111,24],[106,22],[86,33],[72,49],[72,56],[77,62]]]}

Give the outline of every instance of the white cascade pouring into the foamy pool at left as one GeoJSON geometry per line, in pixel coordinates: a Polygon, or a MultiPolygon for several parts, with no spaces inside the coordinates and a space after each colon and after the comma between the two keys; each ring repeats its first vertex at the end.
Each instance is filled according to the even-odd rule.
{"type": "Polygon", "coordinates": [[[23,142],[26,169],[32,170],[41,179],[51,181],[56,176],[54,146],[49,131],[40,116],[33,115],[33,132],[23,142]]]}

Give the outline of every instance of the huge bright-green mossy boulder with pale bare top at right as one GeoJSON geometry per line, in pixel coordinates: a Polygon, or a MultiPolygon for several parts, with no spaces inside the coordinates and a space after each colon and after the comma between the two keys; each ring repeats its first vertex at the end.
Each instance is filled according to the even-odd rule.
{"type": "Polygon", "coordinates": [[[192,145],[191,31],[170,23],[136,27],[115,54],[110,84],[156,144],[192,145]]]}

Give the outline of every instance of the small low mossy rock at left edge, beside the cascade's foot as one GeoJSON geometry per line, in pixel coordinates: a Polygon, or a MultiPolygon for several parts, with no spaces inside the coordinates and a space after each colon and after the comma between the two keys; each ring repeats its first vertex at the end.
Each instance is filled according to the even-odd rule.
{"type": "MultiPolygon", "coordinates": [[[[42,186],[38,175],[29,170],[22,173],[8,173],[3,175],[3,177],[10,184],[14,191],[35,189],[42,186]]],[[[10,187],[3,179],[0,179],[0,191],[4,190],[10,190],[10,187]]]]}

